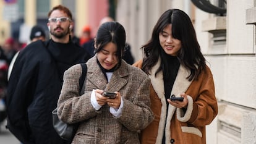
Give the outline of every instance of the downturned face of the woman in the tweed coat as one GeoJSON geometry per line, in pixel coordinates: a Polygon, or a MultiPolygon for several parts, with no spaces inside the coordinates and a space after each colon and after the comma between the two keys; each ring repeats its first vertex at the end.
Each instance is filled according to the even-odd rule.
{"type": "Polygon", "coordinates": [[[97,54],[97,59],[104,69],[112,69],[118,63],[117,46],[109,42],[97,54]]]}

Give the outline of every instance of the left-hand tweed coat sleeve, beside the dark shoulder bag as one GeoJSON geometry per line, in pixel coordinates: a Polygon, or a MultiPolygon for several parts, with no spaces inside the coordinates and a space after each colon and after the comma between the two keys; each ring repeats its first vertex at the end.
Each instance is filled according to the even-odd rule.
{"type": "Polygon", "coordinates": [[[91,93],[80,96],[80,75],[82,75],[80,64],[76,64],[64,72],[64,81],[58,100],[58,117],[68,124],[90,119],[98,114],[90,102],[91,93]]]}

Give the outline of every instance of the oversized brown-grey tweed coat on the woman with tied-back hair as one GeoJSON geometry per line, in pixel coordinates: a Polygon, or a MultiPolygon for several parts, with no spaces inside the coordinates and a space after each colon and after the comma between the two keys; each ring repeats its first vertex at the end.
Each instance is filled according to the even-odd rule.
{"type": "Polygon", "coordinates": [[[154,119],[150,109],[150,78],[122,60],[108,83],[96,62],[96,55],[87,62],[85,94],[82,96],[77,96],[81,67],[75,65],[64,73],[58,116],[67,123],[80,122],[72,143],[139,143],[138,132],[154,119]],[[90,102],[93,89],[119,91],[124,101],[121,116],[114,117],[107,104],[96,111],[90,102]]]}

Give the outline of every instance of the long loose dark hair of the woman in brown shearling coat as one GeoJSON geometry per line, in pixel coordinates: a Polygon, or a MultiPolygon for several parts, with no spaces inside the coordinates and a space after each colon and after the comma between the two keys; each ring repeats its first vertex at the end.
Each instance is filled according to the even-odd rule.
{"type": "Polygon", "coordinates": [[[198,78],[202,70],[205,70],[205,57],[200,51],[195,29],[189,16],[179,9],[165,11],[156,22],[150,40],[142,46],[144,53],[142,70],[149,74],[149,70],[155,66],[159,57],[162,62],[161,66],[156,70],[155,76],[161,70],[168,70],[166,68],[168,67],[166,58],[168,55],[161,48],[159,34],[169,24],[172,25],[173,37],[181,41],[181,49],[177,57],[182,66],[190,70],[190,75],[187,78],[189,81],[193,80],[193,78],[198,78]]]}

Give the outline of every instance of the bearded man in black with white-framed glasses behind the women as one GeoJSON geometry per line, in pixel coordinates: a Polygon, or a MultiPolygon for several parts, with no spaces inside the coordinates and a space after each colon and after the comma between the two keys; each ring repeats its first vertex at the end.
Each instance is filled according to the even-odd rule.
{"type": "Polygon", "coordinates": [[[53,129],[51,112],[56,108],[64,71],[89,59],[87,51],[70,39],[74,23],[69,9],[53,7],[48,17],[51,39],[22,49],[9,78],[7,128],[23,144],[69,143],[53,129]]]}

